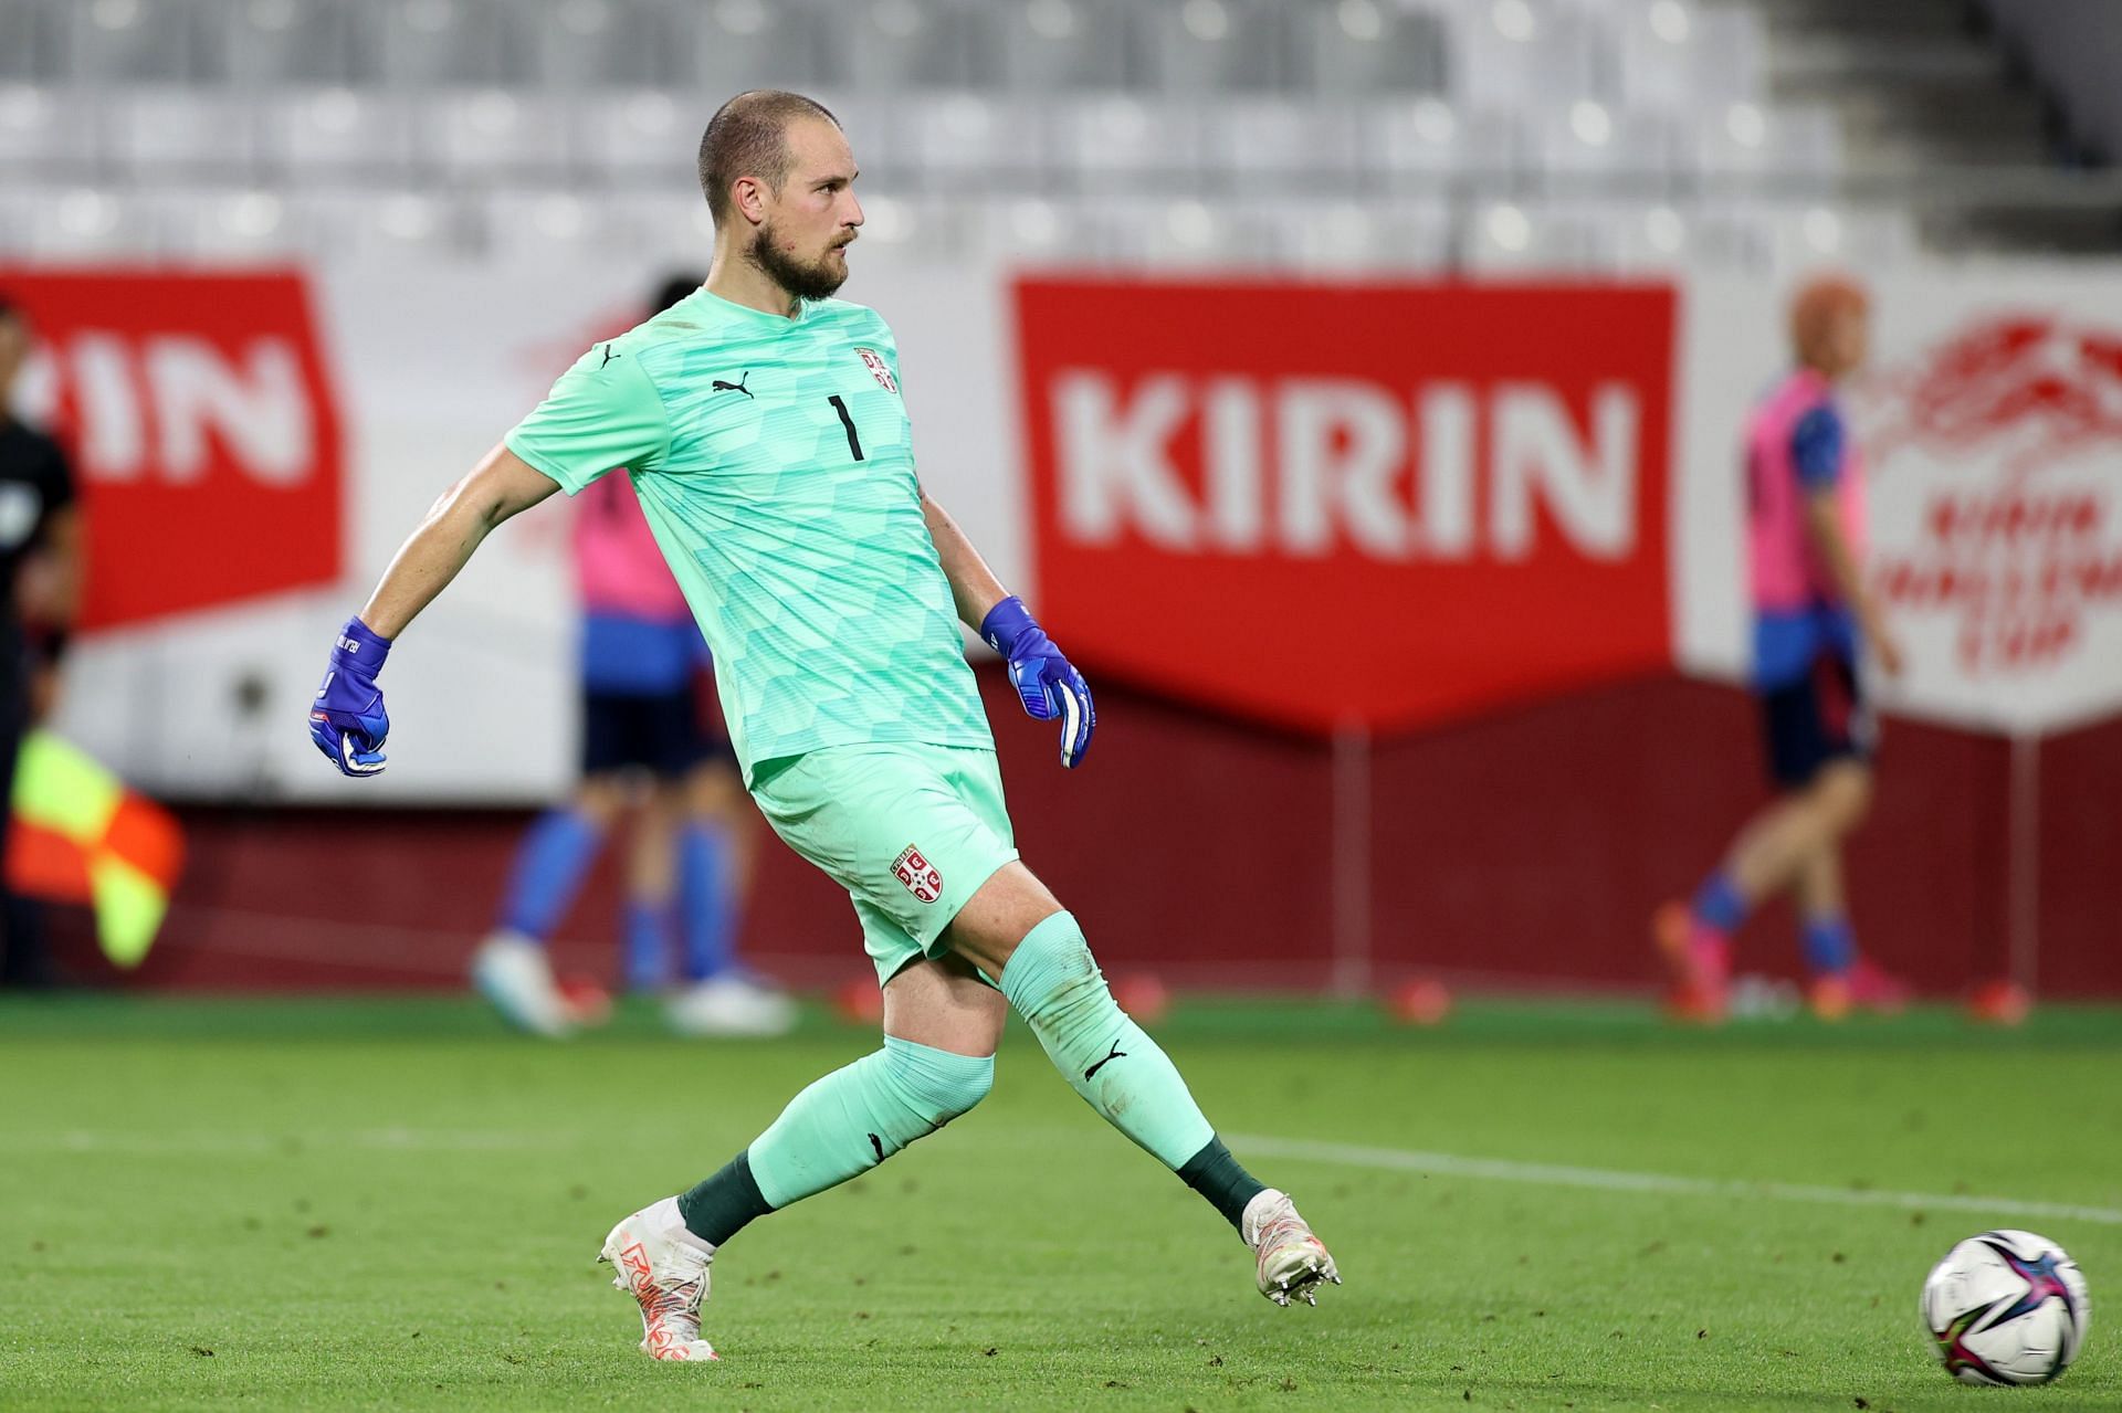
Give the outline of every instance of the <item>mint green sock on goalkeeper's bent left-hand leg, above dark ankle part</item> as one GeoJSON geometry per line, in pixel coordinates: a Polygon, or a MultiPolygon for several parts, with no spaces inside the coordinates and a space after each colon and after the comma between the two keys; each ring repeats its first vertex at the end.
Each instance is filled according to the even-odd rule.
{"type": "Polygon", "coordinates": [[[995,1082],[993,1054],[951,1054],[885,1035],[885,1048],[834,1069],[781,1110],[745,1156],[768,1207],[866,1173],[976,1105],[995,1082]]]}

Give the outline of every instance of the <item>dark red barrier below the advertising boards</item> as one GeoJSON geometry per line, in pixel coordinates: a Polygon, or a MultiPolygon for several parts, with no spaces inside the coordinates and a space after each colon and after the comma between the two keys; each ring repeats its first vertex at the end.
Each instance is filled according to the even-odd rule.
{"type": "MultiPolygon", "coordinates": [[[[1188,987],[1328,984],[1337,925],[1347,936],[1328,747],[1106,685],[1097,747],[1063,772],[1053,728],[1025,719],[997,675],[982,687],[1025,859],[1108,967],[1188,987]]],[[[1755,751],[1744,694],[1679,679],[1377,745],[1358,900],[1375,976],[1651,982],[1651,908],[1685,893],[1766,798],[1755,751]]],[[[2039,982],[2122,995],[2122,721],[2041,751],[2039,982]]],[[[1878,810],[1850,857],[1853,910],[1865,944],[1927,991],[2005,970],[2010,777],[2003,740],[1889,726],[1878,810]]],[[[191,868],[142,984],[454,987],[526,813],[185,819],[191,868]]],[[[615,919],[607,857],[567,919],[562,965],[611,972],[615,919]]],[[[847,897],[772,840],[745,946],[802,984],[866,974],[847,897]]],[[[1782,908],[1742,938],[1749,970],[1789,974],[1795,953],[1782,908]]]]}

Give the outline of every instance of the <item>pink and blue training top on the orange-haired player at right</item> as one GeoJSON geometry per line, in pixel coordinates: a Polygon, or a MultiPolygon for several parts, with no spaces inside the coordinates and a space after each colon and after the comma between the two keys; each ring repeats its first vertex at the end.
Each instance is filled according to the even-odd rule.
{"type": "Polygon", "coordinates": [[[1850,443],[1833,384],[1797,369],[1746,422],[1746,550],[1753,588],[1753,679],[1797,681],[1814,660],[1857,658],[1857,624],[1806,528],[1806,503],[1833,492],[1842,535],[1863,560],[1863,452],[1850,443]]]}

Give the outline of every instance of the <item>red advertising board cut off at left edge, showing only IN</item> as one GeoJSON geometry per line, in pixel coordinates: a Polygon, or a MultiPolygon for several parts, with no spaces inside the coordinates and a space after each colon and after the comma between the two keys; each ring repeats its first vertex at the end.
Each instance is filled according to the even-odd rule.
{"type": "Polygon", "coordinates": [[[293,272],[0,269],[89,507],[83,626],[340,577],[342,437],[293,272]]]}

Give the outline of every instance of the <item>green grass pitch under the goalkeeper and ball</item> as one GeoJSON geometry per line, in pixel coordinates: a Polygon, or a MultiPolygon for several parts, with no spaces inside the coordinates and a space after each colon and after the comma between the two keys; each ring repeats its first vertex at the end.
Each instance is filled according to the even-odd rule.
{"type": "Polygon", "coordinates": [[[1195,1001],[1154,1029],[1335,1250],[1320,1309],[1254,1294],[1229,1226],[1012,1029],[978,1112],[726,1248],[724,1362],[658,1366],[592,1267],[607,1226],[870,1035],[683,1044],[630,1008],[541,1046],[454,999],[11,1001],[0,1407],[2122,1407],[2114,1010],[1674,1033],[1498,1001],[1401,1031],[1195,1001]],[[2054,1385],[1961,1388],[1923,1347],[1925,1271],[1997,1224],[2092,1284],[2054,1385]]]}

